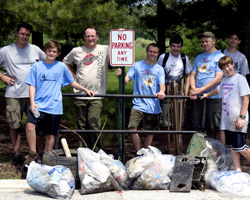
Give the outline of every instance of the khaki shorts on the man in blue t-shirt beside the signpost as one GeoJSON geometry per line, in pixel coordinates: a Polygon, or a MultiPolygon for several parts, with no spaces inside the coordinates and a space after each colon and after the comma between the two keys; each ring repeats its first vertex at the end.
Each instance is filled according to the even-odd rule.
{"type": "Polygon", "coordinates": [[[155,130],[158,127],[160,114],[149,114],[132,109],[129,117],[128,129],[138,129],[140,123],[142,130],[155,130]]]}

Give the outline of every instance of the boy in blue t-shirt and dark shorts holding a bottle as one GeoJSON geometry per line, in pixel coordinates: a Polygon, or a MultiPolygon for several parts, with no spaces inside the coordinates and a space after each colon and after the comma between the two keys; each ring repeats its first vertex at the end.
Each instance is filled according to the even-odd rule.
{"type": "Polygon", "coordinates": [[[44,52],[46,59],[32,65],[25,80],[29,85],[30,110],[26,121],[26,136],[29,144],[29,155],[24,164],[29,164],[38,158],[36,152],[36,135],[45,136],[45,149],[43,143],[38,144],[39,154],[51,151],[55,143],[55,135],[59,129],[63,114],[61,87],[70,85],[78,90],[85,91],[89,96],[95,94],[76,83],[67,66],[56,58],[61,53],[61,46],[56,41],[49,41],[44,52]],[[40,116],[34,116],[34,109],[39,110],[40,116]]]}

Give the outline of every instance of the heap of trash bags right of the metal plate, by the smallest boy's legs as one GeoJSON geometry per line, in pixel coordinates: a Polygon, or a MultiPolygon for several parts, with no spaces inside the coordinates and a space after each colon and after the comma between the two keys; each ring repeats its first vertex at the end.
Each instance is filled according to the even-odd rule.
{"type": "Polygon", "coordinates": [[[227,194],[250,196],[250,174],[235,171],[228,149],[213,138],[196,133],[199,148],[188,149],[188,154],[207,158],[205,181],[211,188],[227,194]]]}

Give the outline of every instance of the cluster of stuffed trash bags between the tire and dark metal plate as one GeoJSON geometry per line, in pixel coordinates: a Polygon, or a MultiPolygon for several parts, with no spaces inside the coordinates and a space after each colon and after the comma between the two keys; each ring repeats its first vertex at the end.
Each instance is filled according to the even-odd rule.
{"type": "Polygon", "coordinates": [[[162,155],[155,147],[142,148],[125,166],[102,150],[95,153],[88,148],[78,148],[77,154],[81,194],[170,187],[175,157],[162,155]]]}

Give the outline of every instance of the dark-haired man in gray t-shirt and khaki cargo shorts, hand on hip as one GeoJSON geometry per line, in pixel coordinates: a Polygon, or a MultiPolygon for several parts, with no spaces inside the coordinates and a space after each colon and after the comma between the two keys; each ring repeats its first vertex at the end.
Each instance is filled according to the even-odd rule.
{"type": "MultiPolygon", "coordinates": [[[[29,110],[29,86],[24,83],[33,63],[46,58],[44,52],[37,46],[29,44],[28,40],[32,32],[32,26],[21,22],[17,26],[15,43],[0,49],[0,66],[6,69],[6,74],[0,73],[0,80],[7,84],[6,119],[10,127],[10,139],[13,145],[15,157],[13,164],[21,163],[20,133],[22,116],[29,110]]],[[[29,140],[29,138],[27,138],[29,140]]]]}

